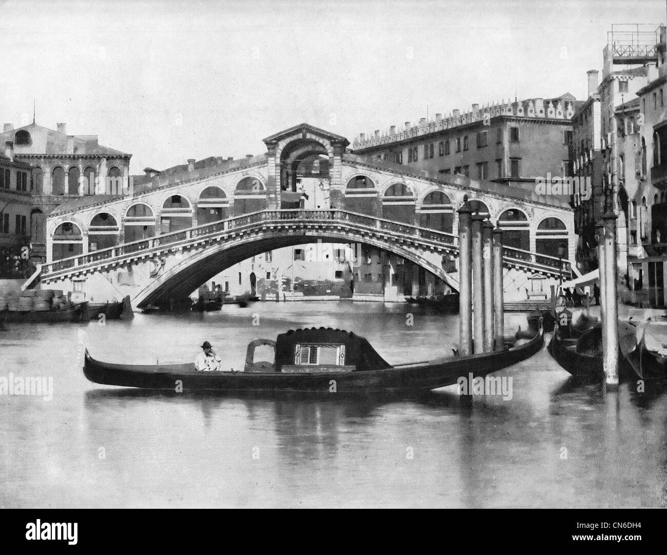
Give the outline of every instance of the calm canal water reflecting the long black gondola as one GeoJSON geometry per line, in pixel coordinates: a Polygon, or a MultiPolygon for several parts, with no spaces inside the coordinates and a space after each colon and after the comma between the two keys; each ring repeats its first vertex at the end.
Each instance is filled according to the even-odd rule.
{"type": "MultiPolygon", "coordinates": [[[[521,323],[506,315],[508,330],[521,323]]],[[[52,377],[53,398],[0,396],[0,507],[667,505],[667,393],[577,386],[546,347],[498,374],[511,399],[456,386],[418,400],[164,395],[98,386],[80,368],[79,340],[100,360],[145,364],[194,360],[208,340],[241,369],[253,338],[309,326],[362,334],[399,363],[449,354],[458,316],[257,303],[8,326],[0,376],[52,377]]]]}

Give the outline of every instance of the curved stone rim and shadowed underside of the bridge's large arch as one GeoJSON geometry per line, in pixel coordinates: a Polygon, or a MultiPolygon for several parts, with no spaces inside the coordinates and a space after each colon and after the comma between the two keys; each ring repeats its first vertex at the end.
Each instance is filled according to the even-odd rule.
{"type": "MultiPolygon", "coordinates": [[[[359,243],[359,235],[354,231],[342,229],[317,229],[304,227],[298,233],[286,234],[278,229],[263,229],[253,233],[253,240],[248,237],[236,237],[227,241],[217,241],[197,252],[183,252],[182,259],[164,273],[157,275],[143,290],[135,294],[133,306],[139,308],[149,304],[163,304],[169,298],[185,298],[202,283],[209,282],[221,271],[253,256],[261,255],[271,249],[317,243],[359,243]]],[[[364,237],[364,245],[382,249],[398,255],[416,265],[424,267],[454,290],[458,283],[452,279],[440,263],[434,263],[418,251],[410,249],[388,238],[364,237]]]]}

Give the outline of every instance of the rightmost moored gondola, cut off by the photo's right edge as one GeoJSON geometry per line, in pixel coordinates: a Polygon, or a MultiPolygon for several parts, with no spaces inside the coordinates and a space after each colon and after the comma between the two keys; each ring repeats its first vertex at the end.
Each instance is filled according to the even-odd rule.
{"type": "Polygon", "coordinates": [[[667,379],[667,352],[662,341],[654,341],[650,324],[619,322],[618,339],[622,355],[641,380],[667,379]]]}

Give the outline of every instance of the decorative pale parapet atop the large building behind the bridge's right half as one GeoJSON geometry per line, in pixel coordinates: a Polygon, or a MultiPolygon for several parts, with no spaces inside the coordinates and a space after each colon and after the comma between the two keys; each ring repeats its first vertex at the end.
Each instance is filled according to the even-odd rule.
{"type": "Polygon", "coordinates": [[[396,125],[392,125],[389,131],[385,133],[381,133],[380,129],[376,129],[374,133],[368,133],[368,136],[366,133],[360,133],[354,139],[352,147],[355,150],[360,150],[396,143],[414,137],[421,137],[422,135],[430,135],[444,129],[454,129],[462,125],[470,125],[470,123],[476,123],[477,121],[490,121],[493,117],[499,116],[572,119],[574,115],[572,101],[564,102],[558,100],[554,105],[554,101],[556,100],[558,99],[550,99],[546,105],[542,98],[526,99],[512,103],[503,101],[502,103],[491,104],[482,108],[475,104],[471,111],[463,114],[460,114],[458,110],[454,110],[450,117],[442,117],[442,114],[438,113],[435,119],[427,120],[423,117],[420,123],[416,125],[411,125],[410,121],[406,121],[402,131],[396,131],[396,125]]]}

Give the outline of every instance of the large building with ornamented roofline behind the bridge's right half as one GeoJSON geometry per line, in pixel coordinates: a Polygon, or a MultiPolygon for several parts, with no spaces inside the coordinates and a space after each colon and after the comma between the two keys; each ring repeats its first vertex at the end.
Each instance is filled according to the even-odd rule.
{"type": "Polygon", "coordinates": [[[436,113],[372,134],[361,133],[356,155],[406,166],[408,171],[461,174],[535,190],[536,177],[570,175],[572,123],[578,101],[570,93],[480,107],[450,117],[436,113]]]}

